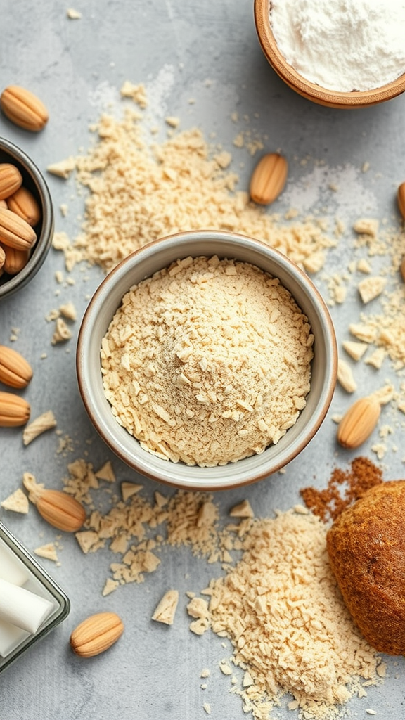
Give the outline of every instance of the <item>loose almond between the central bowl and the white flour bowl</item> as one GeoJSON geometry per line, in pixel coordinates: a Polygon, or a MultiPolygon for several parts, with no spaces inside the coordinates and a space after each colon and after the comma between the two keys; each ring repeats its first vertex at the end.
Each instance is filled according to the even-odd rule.
{"type": "Polygon", "coordinates": [[[288,163],[280,153],[267,153],[257,163],[250,180],[250,197],[260,205],[268,205],[285,186],[288,163]]]}

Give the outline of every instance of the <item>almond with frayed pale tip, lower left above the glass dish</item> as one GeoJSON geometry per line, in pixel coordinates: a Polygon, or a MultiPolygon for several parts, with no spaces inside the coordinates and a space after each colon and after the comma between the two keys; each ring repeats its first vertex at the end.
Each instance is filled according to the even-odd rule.
{"type": "Polygon", "coordinates": [[[86,520],[83,505],[62,490],[44,490],[36,505],[44,520],[58,530],[74,533],[86,520]]]}

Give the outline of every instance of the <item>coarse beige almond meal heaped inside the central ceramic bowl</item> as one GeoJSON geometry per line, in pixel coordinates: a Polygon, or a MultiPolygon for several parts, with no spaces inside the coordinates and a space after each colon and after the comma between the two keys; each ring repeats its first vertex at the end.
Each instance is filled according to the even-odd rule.
{"type": "Polygon", "coordinates": [[[259,454],[294,425],[313,335],[277,278],[184,258],[130,289],[102,340],[118,423],[163,459],[203,467],[259,454]]]}

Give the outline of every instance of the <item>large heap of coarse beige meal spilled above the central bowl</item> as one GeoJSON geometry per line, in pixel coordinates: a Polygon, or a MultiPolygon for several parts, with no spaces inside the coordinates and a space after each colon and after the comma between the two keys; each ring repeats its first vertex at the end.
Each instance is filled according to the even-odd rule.
{"type": "Polygon", "coordinates": [[[108,271],[151,240],[201,229],[259,238],[308,271],[323,266],[325,248],[336,241],[321,221],[282,225],[277,215],[250,202],[247,191],[236,190],[231,154],[224,163],[223,150],[210,147],[201,130],[176,131],[159,144],[151,142],[141,120],[133,108],[123,120],[103,114],[94,125],[94,147],[68,158],[79,188],[89,189],[82,233],[74,243],[61,243],[56,233],[68,270],[86,260],[108,271]]]}

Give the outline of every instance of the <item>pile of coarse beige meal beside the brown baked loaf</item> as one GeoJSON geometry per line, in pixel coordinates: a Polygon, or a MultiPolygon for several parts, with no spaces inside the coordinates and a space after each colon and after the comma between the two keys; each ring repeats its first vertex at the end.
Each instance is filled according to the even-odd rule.
{"type": "Polygon", "coordinates": [[[255,521],[244,554],[212,580],[209,620],[233,644],[233,662],[249,670],[244,711],[271,717],[281,696],[306,719],[338,716],[362,680],[377,683],[380,658],[352,623],[326,552],[327,526],[288,510],[255,521]]]}

